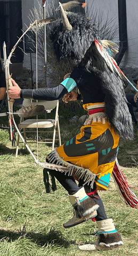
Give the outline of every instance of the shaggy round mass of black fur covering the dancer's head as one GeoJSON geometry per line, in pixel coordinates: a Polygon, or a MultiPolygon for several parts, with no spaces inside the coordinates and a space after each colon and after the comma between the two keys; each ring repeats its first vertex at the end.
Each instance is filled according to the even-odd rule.
{"type": "Polygon", "coordinates": [[[62,19],[59,19],[53,25],[50,38],[53,42],[54,52],[58,60],[71,57],[81,61],[98,34],[92,21],[87,19],[85,15],[69,13],[67,17],[72,30],[64,31],[62,19]]]}

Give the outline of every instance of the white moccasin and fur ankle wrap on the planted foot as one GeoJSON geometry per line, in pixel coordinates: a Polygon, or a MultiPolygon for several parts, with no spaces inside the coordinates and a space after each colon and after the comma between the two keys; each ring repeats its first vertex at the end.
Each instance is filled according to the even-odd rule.
{"type": "Polygon", "coordinates": [[[98,223],[98,237],[99,240],[93,244],[84,244],[78,246],[82,251],[93,250],[112,250],[117,249],[119,245],[123,244],[120,233],[116,230],[112,219],[97,221],[98,223]]]}

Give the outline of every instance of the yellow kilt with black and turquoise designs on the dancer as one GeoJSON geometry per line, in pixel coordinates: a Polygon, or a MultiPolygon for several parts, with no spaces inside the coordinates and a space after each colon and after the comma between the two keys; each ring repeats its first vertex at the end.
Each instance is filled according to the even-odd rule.
{"type": "MultiPolygon", "coordinates": [[[[93,120],[91,124],[82,126],[80,133],[57,148],[56,152],[67,165],[71,163],[89,169],[95,174],[96,188],[107,190],[115,165],[119,136],[107,119],[104,119],[104,123],[99,121],[93,120]]],[[[79,180],[80,173],[75,174],[74,178],[79,180]]]]}

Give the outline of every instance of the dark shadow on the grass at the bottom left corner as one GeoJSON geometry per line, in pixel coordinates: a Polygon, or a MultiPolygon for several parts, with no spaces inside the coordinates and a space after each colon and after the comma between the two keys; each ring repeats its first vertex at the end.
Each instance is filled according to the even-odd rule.
{"type": "Polygon", "coordinates": [[[75,241],[67,241],[66,238],[62,236],[61,232],[56,230],[54,227],[51,227],[48,233],[46,233],[46,230],[34,230],[26,233],[25,226],[22,231],[19,232],[12,232],[3,229],[0,230],[0,242],[6,239],[7,242],[11,243],[22,238],[29,239],[31,242],[43,247],[47,246],[47,244],[52,244],[67,248],[70,244],[75,244],[75,241]]]}

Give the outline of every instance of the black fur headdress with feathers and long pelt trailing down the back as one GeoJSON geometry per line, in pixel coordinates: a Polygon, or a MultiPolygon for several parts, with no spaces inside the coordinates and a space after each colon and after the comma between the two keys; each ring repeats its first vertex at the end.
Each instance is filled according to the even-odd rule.
{"type": "Polygon", "coordinates": [[[87,68],[91,73],[94,72],[100,78],[105,94],[105,111],[111,126],[120,137],[133,139],[132,117],[124,93],[124,78],[113,63],[113,54],[108,53],[108,50],[111,52],[112,49],[112,52],[116,53],[116,45],[104,41],[104,47],[98,31],[85,15],[70,13],[67,17],[72,29],[64,30],[60,19],[55,23],[51,33],[56,58],[59,61],[62,58],[77,60],[80,66],[87,68]],[[95,39],[98,41],[95,42],[95,39]],[[101,50],[98,50],[98,47],[101,47],[101,50]]]}

